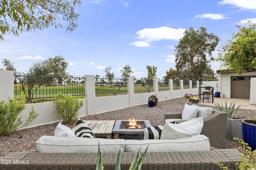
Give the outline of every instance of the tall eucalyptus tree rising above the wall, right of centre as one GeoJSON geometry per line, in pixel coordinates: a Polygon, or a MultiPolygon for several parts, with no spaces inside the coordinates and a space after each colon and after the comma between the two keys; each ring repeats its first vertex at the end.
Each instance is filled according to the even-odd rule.
{"type": "Polygon", "coordinates": [[[217,35],[207,33],[206,28],[187,29],[178,45],[175,45],[177,76],[183,80],[206,80],[214,77],[210,68],[212,52],[220,41],[217,35]]]}

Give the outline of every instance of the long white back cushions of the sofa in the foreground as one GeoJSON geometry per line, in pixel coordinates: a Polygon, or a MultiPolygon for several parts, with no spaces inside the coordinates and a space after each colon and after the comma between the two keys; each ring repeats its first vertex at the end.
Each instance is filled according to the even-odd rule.
{"type": "Polygon", "coordinates": [[[210,150],[210,141],[204,135],[180,139],[124,140],[83,137],[42,136],[36,141],[37,152],[97,153],[101,152],[172,152],[210,150]]]}

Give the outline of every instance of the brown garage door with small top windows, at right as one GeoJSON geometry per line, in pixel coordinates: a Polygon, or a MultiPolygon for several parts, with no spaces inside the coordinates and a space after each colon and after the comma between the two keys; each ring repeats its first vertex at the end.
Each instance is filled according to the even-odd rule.
{"type": "Polygon", "coordinates": [[[250,99],[250,79],[256,76],[232,76],[231,98],[250,99]]]}

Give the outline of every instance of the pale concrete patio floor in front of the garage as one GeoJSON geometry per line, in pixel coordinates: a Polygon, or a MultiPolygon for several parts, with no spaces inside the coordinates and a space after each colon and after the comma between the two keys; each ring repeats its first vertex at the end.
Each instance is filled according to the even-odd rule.
{"type": "MultiPolygon", "coordinates": [[[[256,110],[256,105],[251,105],[249,99],[216,98],[216,97],[214,97],[214,103],[215,104],[218,103],[220,106],[221,106],[221,104],[223,104],[223,106],[225,107],[226,101],[227,101],[227,106],[230,106],[231,102],[233,102],[233,104],[235,102],[235,108],[241,104],[239,109],[256,110]]],[[[214,103],[212,103],[212,102],[208,103],[208,102],[202,102],[202,101],[199,102],[199,104],[206,105],[206,106],[215,106],[214,103]]]]}

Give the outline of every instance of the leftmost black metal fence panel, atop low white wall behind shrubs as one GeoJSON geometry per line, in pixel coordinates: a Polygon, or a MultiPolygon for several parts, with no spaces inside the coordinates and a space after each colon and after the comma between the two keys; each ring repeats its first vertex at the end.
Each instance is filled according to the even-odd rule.
{"type": "Polygon", "coordinates": [[[84,98],[84,81],[82,76],[33,76],[19,74],[14,77],[14,95],[26,95],[28,103],[53,101],[54,96],[61,92],[63,95],[70,95],[84,98]]]}

